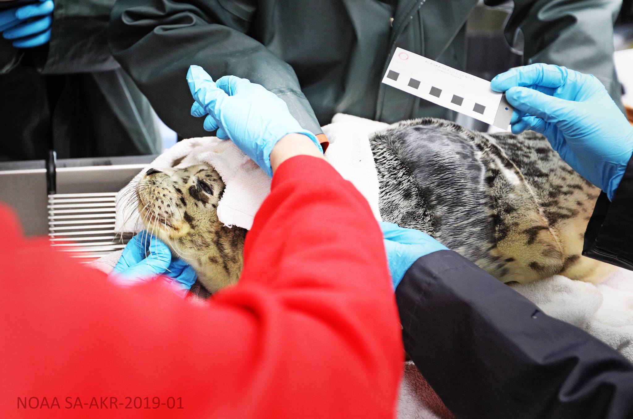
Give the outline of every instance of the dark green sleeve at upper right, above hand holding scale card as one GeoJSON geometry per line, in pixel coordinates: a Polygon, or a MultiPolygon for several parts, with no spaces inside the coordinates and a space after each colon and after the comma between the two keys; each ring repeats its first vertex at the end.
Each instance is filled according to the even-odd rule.
{"type": "MultiPolygon", "coordinates": [[[[485,0],[488,6],[505,3],[485,0]]],[[[524,39],[523,64],[548,63],[592,74],[622,107],[613,64],[613,22],[622,0],[514,0],[505,27],[510,45],[524,39]]]]}

